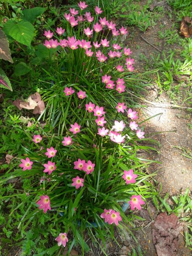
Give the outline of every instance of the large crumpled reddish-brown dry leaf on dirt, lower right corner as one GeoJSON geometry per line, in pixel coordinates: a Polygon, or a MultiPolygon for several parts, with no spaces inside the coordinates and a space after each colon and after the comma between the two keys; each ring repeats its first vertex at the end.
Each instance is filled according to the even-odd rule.
{"type": "Polygon", "coordinates": [[[183,226],[173,213],[160,213],[152,229],[153,243],[158,256],[177,256],[179,234],[183,226]]]}

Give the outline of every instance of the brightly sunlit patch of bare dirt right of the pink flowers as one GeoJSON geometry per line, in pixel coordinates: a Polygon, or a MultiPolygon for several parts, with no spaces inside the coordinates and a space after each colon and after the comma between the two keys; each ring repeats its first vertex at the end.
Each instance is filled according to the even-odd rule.
{"type": "MultiPolygon", "coordinates": [[[[150,101],[154,101],[156,96],[157,92],[151,91],[150,101]]],[[[165,94],[157,102],[171,104],[165,94]]],[[[179,109],[149,106],[143,115],[151,117],[158,113],[162,114],[150,119],[146,126],[148,134],[161,143],[160,153],[154,158],[161,162],[156,166],[157,179],[162,183],[163,192],[176,194],[192,188],[192,160],[186,157],[187,151],[192,150],[192,131],[186,124],[185,111],[179,109]]]]}

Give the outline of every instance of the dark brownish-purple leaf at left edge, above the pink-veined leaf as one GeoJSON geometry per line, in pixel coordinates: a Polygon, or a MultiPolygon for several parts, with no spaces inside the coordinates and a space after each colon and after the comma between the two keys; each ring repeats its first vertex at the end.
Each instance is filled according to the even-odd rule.
{"type": "Polygon", "coordinates": [[[0,30],[0,58],[13,63],[9,49],[9,42],[2,30],[0,30]]]}

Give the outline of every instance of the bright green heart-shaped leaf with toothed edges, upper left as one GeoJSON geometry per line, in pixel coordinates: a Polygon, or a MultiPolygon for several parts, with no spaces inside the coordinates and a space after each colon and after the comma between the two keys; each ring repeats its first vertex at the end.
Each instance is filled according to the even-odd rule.
{"type": "Polygon", "coordinates": [[[3,30],[6,35],[30,47],[34,34],[34,26],[29,21],[23,20],[16,23],[13,20],[9,20],[5,23],[3,30]]]}

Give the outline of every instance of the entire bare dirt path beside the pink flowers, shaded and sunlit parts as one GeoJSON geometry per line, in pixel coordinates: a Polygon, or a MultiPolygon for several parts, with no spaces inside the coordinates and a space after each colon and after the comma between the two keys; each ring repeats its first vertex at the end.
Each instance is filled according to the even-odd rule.
{"type": "MultiPolygon", "coordinates": [[[[169,16],[162,17],[160,23],[164,24],[164,29],[170,28],[172,23],[169,16]]],[[[133,35],[131,40],[128,38],[125,45],[130,47],[135,59],[135,67],[137,72],[145,72],[144,63],[141,62],[141,55],[149,60],[151,55],[158,54],[159,52],[144,41],[143,36],[147,41],[156,46],[160,51],[164,51],[168,46],[165,46],[164,41],[158,38],[158,30],[160,26],[148,28],[145,33],[139,31],[138,28],[130,28],[130,35],[133,35]]],[[[173,45],[178,47],[178,45],[173,45]]],[[[155,68],[155,67],[154,67],[155,68]]],[[[151,137],[158,141],[161,146],[157,146],[158,153],[150,154],[152,160],[159,161],[160,164],[151,164],[150,171],[156,172],[156,179],[162,184],[161,194],[169,193],[169,195],[182,193],[186,188],[192,189],[192,160],[184,155],[188,155],[188,151],[192,151],[192,130],[187,123],[189,122],[189,114],[181,109],[173,109],[167,105],[173,105],[166,93],[158,94],[158,87],[156,86],[155,79],[156,73],[152,74],[150,79],[154,83],[154,87],[148,88],[145,99],[157,103],[157,106],[150,105],[146,102],[142,104],[147,105],[142,109],[143,119],[152,117],[158,113],[160,115],[151,118],[145,123],[145,132],[147,137],[151,137]],[[160,107],[159,104],[160,103],[160,107]]],[[[155,246],[152,238],[152,227],[157,213],[155,207],[149,204],[149,209],[153,212],[153,220],[149,219],[145,223],[140,223],[142,229],[135,233],[141,245],[143,255],[157,256],[155,246]],[[151,208],[151,209],[150,209],[151,208]]],[[[142,216],[140,211],[139,213],[142,216]]],[[[145,216],[144,216],[145,218],[145,216]]],[[[189,250],[185,247],[183,237],[179,238],[179,250],[175,254],[177,256],[191,255],[189,250]]]]}

